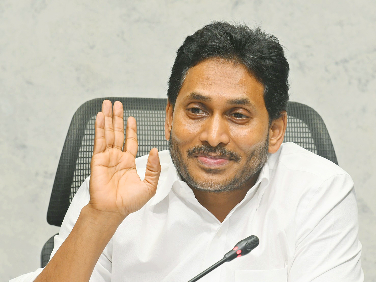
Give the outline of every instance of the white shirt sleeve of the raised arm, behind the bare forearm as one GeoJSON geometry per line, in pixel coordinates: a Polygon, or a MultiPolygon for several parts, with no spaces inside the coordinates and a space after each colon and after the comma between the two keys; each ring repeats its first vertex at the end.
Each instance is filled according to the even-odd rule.
{"type": "MultiPolygon", "coordinates": [[[[69,233],[73,229],[74,224],[80,215],[81,209],[86,206],[90,200],[89,194],[89,180],[90,176],[80,186],[76,195],[68,208],[67,214],[65,214],[64,220],[61,224],[59,234],[55,236],[53,243],[53,250],[50,256],[50,260],[55,255],[64,240],[68,237],[69,233]]],[[[99,257],[99,260],[94,267],[93,273],[90,278],[90,282],[110,282],[111,281],[111,258],[112,258],[112,239],[106,246],[105,250],[99,257]]],[[[42,272],[43,268],[38,268],[36,271],[21,275],[9,282],[33,282],[36,277],[42,272]]]]}

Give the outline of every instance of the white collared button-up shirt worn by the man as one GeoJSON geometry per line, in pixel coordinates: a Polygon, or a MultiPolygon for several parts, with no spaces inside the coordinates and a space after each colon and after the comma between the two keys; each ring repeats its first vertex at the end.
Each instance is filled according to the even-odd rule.
{"type": "MultiPolygon", "coordinates": [[[[361,243],[351,177],[294,143],[269,154],[256,184],[221,223],[182,182],[168,151],[155,196],[126,217],[96,264],[91,282],[186,282],[256,235],[251,253],[225,262],[200,282],[358,282],[361,243]]],[[[143,179],[147,156],[136,159],[143,179]]],[[[89,201],[82,183],[56,235],[52,255],[89,201]]],[[[33,281],[42,271],[12,282],[33,281]]]]}

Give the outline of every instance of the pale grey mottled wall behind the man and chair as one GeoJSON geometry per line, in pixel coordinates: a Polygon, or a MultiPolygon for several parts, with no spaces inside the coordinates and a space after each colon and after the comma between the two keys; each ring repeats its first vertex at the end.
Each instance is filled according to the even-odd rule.
{"type": "Polygon", "coordinates": [[[71,118],[106,96],[166,97],[184,38],[212,20],[280,39],[291,100],[324,119],[355,182],[366,281],[376,281],[376,2],[0,0],[0,277],[39,267],[71,118]]]}

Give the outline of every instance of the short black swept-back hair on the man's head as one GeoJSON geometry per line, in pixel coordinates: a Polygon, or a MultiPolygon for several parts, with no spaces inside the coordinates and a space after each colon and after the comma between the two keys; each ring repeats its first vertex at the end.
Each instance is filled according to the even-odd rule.
{"type": "Polygon", "coordinates": [[[264,85],[269,122],[286,110],[289,65],[278,39],[246,25],[215,21],[188,36],[176,52],[168,80],[167,97],[175,105],[177,95],[191,67],[208,58],[222,58],[243,64],[264,85]]]}

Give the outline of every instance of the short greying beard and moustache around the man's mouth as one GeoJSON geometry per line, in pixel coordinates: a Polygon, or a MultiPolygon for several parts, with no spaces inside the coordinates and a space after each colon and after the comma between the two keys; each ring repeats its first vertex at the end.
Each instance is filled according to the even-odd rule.
{"type": "MultiPolygon", "coordinates": [[[[172,136],[172,130],[170,133],[170,140],[168,141],[168,148],[170,149],[170,156],[177,172],[182,177],[182,180],[188,184],[191,188],[204,192],[229,192],[234,190],[240,190],[257,176],[264,166],[269,148],[269,132],[264,143],[259,144],[254,149],[247,152],[246,161],[243,167],[239,167],[242,161],[240,154],[232,152],[225,147],[211,147],[209,145],[198,145],[186,150],[185,154],[187,158],[194,158],[196,154],[208,155],[208,153],[221,156],[223,158],[230,158],[231,161],[238,164],[237,170],[233,171],[228,179],[221,181],[209,180],[209,179],[197,179],[193,175],[193,171],[188,169],[188,163],[183,160],[183,152],[179,149],[179,142],[172,136]]],[[[199,169],[199,168],[198,168],[199,169]]],[[[219,169],[204,169],[207,173],[220,174],[219,169]]]]}

